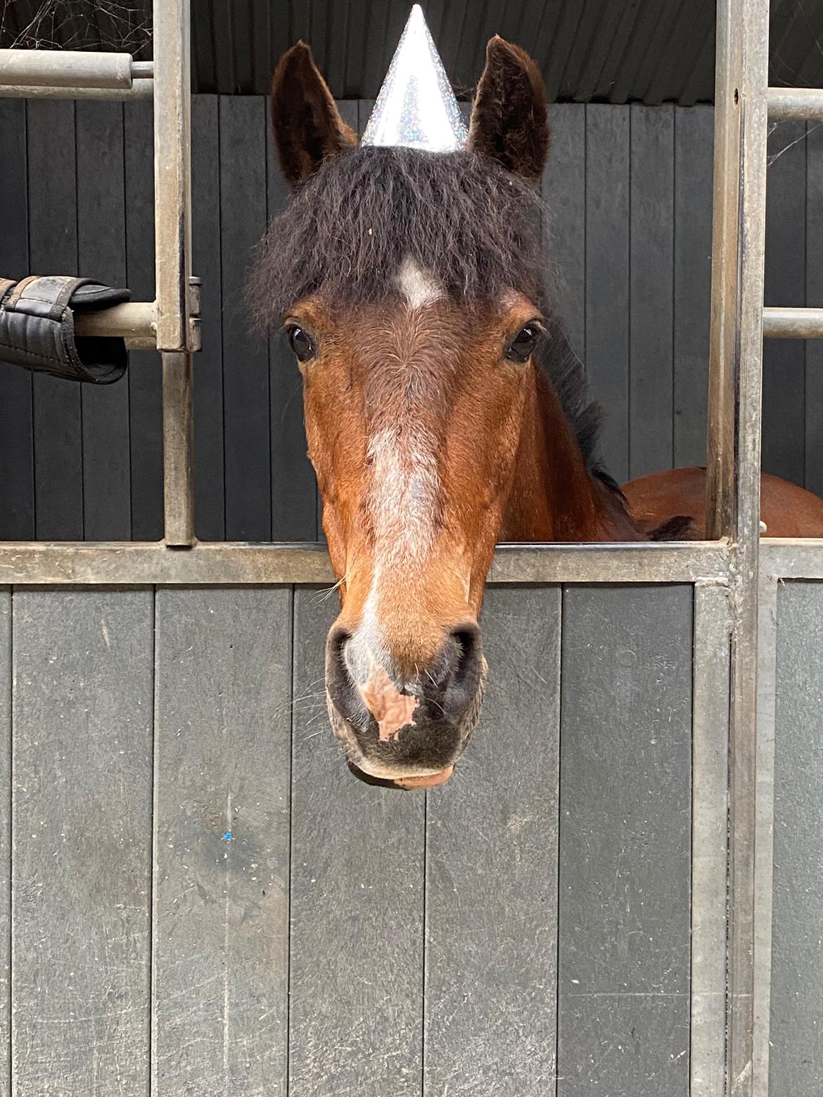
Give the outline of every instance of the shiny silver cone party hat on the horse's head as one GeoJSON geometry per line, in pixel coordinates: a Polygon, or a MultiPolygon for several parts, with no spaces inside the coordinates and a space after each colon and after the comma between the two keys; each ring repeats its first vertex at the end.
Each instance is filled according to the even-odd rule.
{"type": "Polygon", "coordinates": [[[463,148],[467,139],[443,63],[422,8],[416,3],[388,66],[362,144],[453,152],[463,148]]]}

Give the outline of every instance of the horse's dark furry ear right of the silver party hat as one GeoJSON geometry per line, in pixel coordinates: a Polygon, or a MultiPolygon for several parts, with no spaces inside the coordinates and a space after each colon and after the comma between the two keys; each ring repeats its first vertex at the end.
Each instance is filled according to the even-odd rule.
{"type": "Polygon", "coordinates": [[[486,46],[469,147],[528,182],[540,179],[549,152],[545,87],[534,61],[498,35],[486,46]]]}

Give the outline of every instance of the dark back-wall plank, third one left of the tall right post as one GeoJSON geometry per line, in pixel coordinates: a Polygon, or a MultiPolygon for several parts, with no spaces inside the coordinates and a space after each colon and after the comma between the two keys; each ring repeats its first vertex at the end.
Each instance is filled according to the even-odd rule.
{"type": "Polygon", "coordinates": [[[629,474],[630,108],[586,106],[586,370],[606,409],[601,453],[629,474]]]}

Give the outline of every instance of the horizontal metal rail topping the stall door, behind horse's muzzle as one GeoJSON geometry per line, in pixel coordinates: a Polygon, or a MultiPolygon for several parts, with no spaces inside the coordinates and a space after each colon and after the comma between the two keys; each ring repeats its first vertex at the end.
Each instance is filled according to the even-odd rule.
{"type": "MultiPolygon", "coordinates": [[[[683,544],[498,545],[492,584],[723,581],[725,545],[683,544]]],[[[0,543],[2,584],[216,584],[334,583],[325,545],[194,542],[181,552],[162,542],[0,543]]]]}

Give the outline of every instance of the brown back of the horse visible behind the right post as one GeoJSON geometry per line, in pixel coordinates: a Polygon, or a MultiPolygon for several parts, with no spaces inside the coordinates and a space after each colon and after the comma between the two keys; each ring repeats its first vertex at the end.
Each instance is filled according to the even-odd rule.
{"type": "MultiPolygon", "coordinates": [[[[704,535],[704,468],[673,468],[640,476],[623,485],[634,519],[645,530],[688,514],[704,535]]],[[[770,538],[823,538],[823,499],[797,484],[765,475],[760,478],[760,518],[770,538]]]]}

